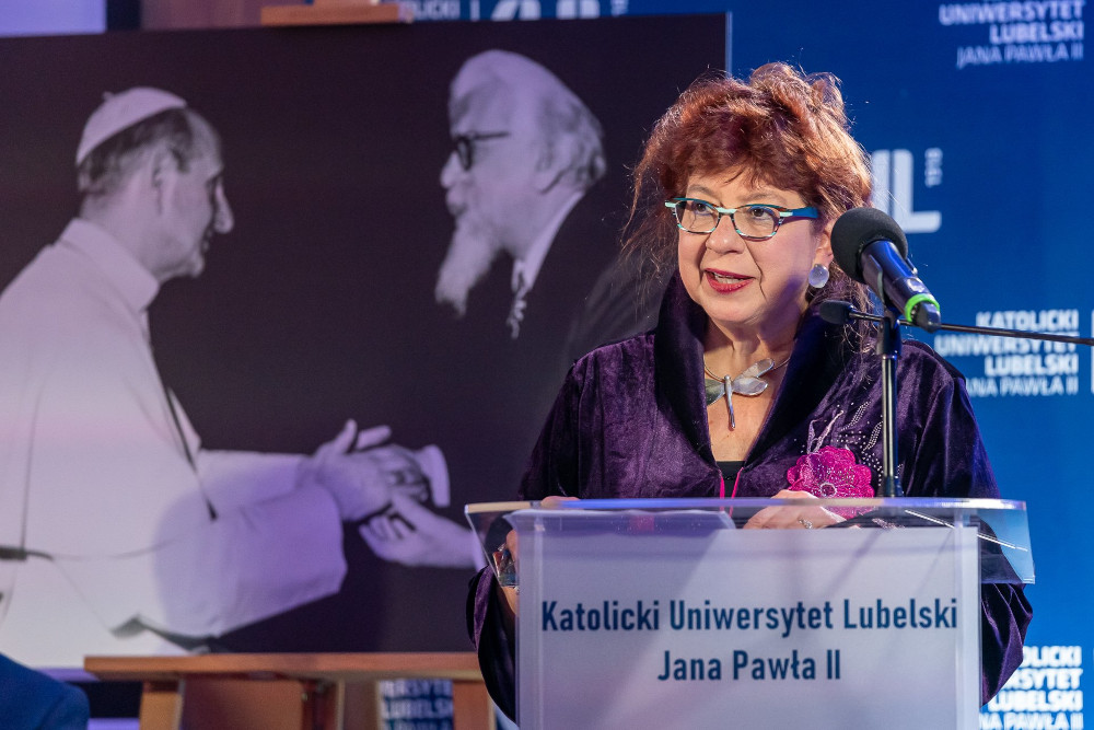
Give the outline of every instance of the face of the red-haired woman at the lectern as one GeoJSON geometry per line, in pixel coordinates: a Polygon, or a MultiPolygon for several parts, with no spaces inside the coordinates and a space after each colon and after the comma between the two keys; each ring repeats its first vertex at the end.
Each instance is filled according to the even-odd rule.
{"type": "MultiPolygon", "coordinates": [[[[799,193],[735,172],[694,176],[684,197],[720,208],[806,205],[799,193]]],[[[810,269],[831,263],[830,225],[817,235],[813,231],[812,220],[795,218],[782,223],[773,237],[753,241],[741,237],[729,216],[722,216],[712,233],[682,230],[680,278],[711,323],[731,338],[792,337],[805,310],[810,269]]]]}

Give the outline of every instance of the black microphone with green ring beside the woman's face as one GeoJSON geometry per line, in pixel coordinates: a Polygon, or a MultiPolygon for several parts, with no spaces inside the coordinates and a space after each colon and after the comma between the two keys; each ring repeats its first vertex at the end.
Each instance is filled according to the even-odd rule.
{"type": "Polygon", "coordinates": [[[908,240],[896,221],[876,208],[852,208],[831,229],[831,253],[848,276],[917,327],[934,332],[942,324],[939,300],[908,259],[908,240]]]}

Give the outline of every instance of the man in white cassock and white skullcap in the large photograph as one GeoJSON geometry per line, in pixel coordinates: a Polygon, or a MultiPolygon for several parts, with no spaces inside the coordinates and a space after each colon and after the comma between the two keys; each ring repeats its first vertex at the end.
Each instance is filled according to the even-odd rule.
{"type": "Polygon", "coordinates": [[[362,534],[387,559],[469,566],[469,532],[419,503],[446,479],[435,449],[349,422],[311,456],[206,451],[161,382],[147,308],[233,225],[212,127],[131,89],[75,161],[79,217],[0,296],[0,651],[200,646],[336,592],[342,522],[379,528],[362,534]]]}

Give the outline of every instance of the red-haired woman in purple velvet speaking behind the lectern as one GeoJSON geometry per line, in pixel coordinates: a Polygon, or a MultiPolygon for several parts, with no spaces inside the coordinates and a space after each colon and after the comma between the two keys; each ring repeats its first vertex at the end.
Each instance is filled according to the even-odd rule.
{"type": "MultiPolygon", "coordinates": [[[[836,219],[869,198],[834,77],[769,63],[747,82],[693,84],[635,171],[627,245],[678,269],[657,326],[574,363],[522,497],[778,497],[793,508],[745,526],[818,529],[842,518],[817,498],[874,496],[883,444],[873,333],[817,314],[827,299],[869,306],[829,241],[836,219]]],[[[998,497],[959,373],[908,341],[898,374],[906,495],[998,497]]],[[[510,715],[514,610],[512,589],[479,573],[469,626],[510,715]]],[[[1021,588],[985,584],[981,614],[987,700],[1022,660],[1031,610],[1021,588]]]]}

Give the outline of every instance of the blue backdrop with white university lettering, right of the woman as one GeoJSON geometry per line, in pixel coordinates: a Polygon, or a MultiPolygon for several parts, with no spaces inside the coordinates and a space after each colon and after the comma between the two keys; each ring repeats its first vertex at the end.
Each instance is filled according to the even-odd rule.
{"type": "MultiPolygon", "coordinates": [[[[1094,76],[1082,4],[859,2],[838,19],[825,3],[743,7],[732,70],[789,60],[842,79],[856,137],[873,155],[875,205],[908,232],[945,322],[1090,336],[1094,76]]],[[[912,336],[967,376],[1000,489],[1029,511],[1037,584],[1026,665],[981,727],[1083,727],[1080,664],[1094,647],[1083,588],[1094,575],[1091,351],[912,336]]]]}

